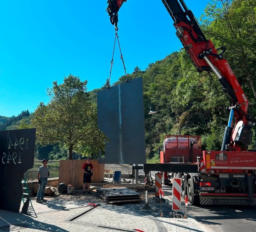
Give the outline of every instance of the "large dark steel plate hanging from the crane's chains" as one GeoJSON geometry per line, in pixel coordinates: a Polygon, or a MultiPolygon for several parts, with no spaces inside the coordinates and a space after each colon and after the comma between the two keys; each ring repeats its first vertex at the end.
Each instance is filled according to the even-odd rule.
{"type": "Polygon", "coordinates": [[[97,93],[98,126],[110,139],[100,164],[145,164],[142,77],[97,93]]]}

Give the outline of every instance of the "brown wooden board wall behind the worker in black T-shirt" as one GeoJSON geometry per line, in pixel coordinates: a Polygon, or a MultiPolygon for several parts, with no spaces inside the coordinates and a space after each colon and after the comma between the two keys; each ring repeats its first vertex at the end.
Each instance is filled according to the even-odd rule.
{"type": "MultiPolygon", "coordinates": [[[[60,160],[59,183],[66,185],[74,184],[75,189],[83,187],[83,164],[87,160],[60,160]]],[[[100,183],[104,181],[104,164],[99,164],[98,160],[91,160],[94,166],[91,182],[100,183]]]]}

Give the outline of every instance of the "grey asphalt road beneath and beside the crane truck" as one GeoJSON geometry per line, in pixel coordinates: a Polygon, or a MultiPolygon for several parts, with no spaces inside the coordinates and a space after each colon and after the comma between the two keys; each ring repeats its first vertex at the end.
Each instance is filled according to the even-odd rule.
{"type": "MultiPolygon", "coordinates": [[[[163,192],[172,199],[172,187],[163,185],[163,192]]],[[[185,204],[182,202],[182,210],[185,204]]],[[[214,232],[256,231],[256,206],[213,205],[187,206],[187,214],[214,232]]]]}

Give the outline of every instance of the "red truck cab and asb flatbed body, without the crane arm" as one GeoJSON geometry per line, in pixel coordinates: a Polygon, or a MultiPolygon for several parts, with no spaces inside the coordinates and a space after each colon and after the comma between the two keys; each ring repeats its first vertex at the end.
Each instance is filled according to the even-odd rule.
{"type": "Polygon", "coordinates": [[[160,163],[190,163],[198,173],[163,172],[163,182],[182,178],[192,204],[256,204],[255,151],[201,151],[200,136],[166,135],[160,163]]]}

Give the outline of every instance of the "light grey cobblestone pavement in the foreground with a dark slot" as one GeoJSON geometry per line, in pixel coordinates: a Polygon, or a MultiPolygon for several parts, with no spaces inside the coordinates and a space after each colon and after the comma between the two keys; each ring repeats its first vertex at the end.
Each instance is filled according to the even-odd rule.
{"type": "MultiPolygon", "coordinates": [[[[36,203],[32,200],[36,215],[24,215],[0,210],[0,231],[20,232],[202,232],[199,223],[194,219],[170,218],[170,206],[162,204],[163,217],[160,217],[160,205],[149,200],[158,211],[142,212],[143,202],[112,205],[105,204],[94,192],[92,195],[60,195],[46,198],[47,202],[36,203]],[[88,203],[100,204],[96,208],[88,203]]],[[[23,206],[23,203],[22,205],[23,206]]]]}

